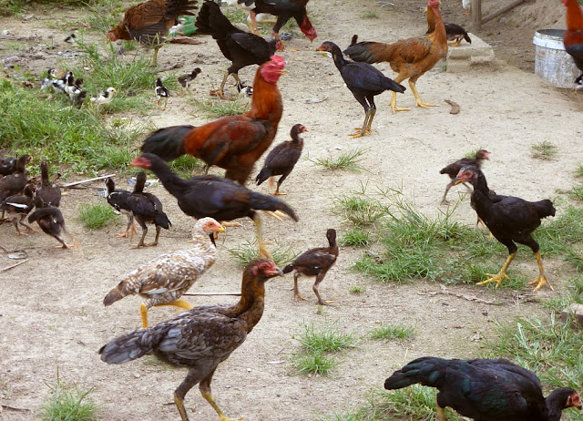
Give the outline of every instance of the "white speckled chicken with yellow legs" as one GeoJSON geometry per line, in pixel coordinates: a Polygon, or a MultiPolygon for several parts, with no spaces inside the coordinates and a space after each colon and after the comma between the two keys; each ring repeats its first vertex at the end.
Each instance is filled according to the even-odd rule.
{"type": "Polygon", "coordinates": [[[155,305],[174,305],[185,310],[192,306],[179,300],[194,282],[215,262],[217,250],[210,240],[214,232],[224,232],[219,222],[212,218],[197,221],[192,230],[189,250],[162,254],[151,262],[129,272],[103,300],[107,307],[128,295],[139,294],[146,298],[140,313],[142,326],[148,327],[148,308],[155,305]]]}

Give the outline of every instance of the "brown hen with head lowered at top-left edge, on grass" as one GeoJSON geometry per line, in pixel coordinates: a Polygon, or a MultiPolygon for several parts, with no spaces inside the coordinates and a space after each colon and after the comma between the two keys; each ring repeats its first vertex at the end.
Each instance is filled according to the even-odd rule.
{"type": "Polygon", "coordinates": [[[194,15],[197,0],[149,0],[132,5],[117,26],[107,33],[111,41],[135,39],[154,47],[152,65],[158,63],[158,50],[170,27],[177,24],[179,15],[194,15]]]}

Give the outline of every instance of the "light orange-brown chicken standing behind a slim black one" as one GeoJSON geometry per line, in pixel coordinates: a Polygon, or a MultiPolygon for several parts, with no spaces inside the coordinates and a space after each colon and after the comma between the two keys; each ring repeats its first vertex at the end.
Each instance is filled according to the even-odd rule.
{"type": "MultiPolygon", "coordinates": [[[[427,3],[427,25],[430,34],[416,38],[407,38],[394,44],[375,42],[353,43],[344,50],[344,54],[354,61],[366,63],[389,62],[391,68],[398,73],[394,78],[397,83],[409,79],[409,87],[415,98],[415,105],[421,108],[437,107],[435,104],[423,102],[415,83],[427,70],[430,70],[441,59],[447,56],[447,36],[444,22],[439,13],[439,0],[429,0],[427,3]],[[435,30],[431,30],[435,26],[435,30]]],[[[354,40],[355,41],[355,40],[354,40]]],[[[397,94],[392,93],[391,108],[393,112],[408,111],[410,108],[397,108],[397,94]]]]}

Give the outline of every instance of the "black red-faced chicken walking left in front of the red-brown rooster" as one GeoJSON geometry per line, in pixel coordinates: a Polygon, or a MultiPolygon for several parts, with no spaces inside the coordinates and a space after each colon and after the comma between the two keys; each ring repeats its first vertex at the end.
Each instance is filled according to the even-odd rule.
{"type": "Polygon", "coordinates": [[[233,221],[249,217],[255,222],[260,254],[271,257],[261,237],[261,219],[257,211],[282,212],[298,221],[295,212],[283,201],[251,191],[235,181],[216,176],[196,176],[189,180],[179,178],[159,156],[145,153],[131,165],[150,169],[162,181],[170,194],[179,200],[179,208],[196,219],[210,217],[217,221],[233,221]]]}

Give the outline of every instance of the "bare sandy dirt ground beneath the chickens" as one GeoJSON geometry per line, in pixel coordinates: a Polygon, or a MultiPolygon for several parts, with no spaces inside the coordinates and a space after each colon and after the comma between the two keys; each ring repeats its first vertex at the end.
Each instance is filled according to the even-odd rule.
{"type": "MultiPolygon", "coordinates": [[[[332,200],[345,192],[360,190],[363,185],[370,191],[377,186],[402,187],[406,197],[426,214],[444,211],[439,202],[447,180],[439,175],[439,169],[478,147],[492,152],[485,170],[490,187],[496,191],[527,200],[553,199],[557,189],[565,189],[574,182],[573,171],[583,153],[580,124],[583,97],[552,87],[533,74],[532,36],[540,22],[530,26],[511,25],[509,21],[486,25],[480,36],[495,45],[496,66],[463,74],[445,73],[437,66],[421,77],[417,87],[425,101],[438,103],[439,108],[414,108],[392,115],[387,105],[389,95],[384,94],[377,97],[373,135],[362,139],[347,137],[347,133],[362,124],[363,109],[343,87],[332,59],[317,54],[315,46],[325,40],[346,46],[355,30],[362,39],[386,41],[423,34],[424,2],[394,3],[394,7],[381,8],[373,0],[360,3],[312,0],[309,10],[318,38],[312,46],[303,37],[294,38],[288,46],[299,51],[282,54],[289,74],[279,84],[284,110],[274,144],[288,139],[294,123],[300,122],[310,131],[304,134],[303,159],[283,184],[283,190],[290,192],[284,200],[297,211],[300,221],[264,219],[264,226],[266,238],[289,245],[295,252],[325,244],[329,227],[340,233],[345,231],[347,227],[331,211],[332,200]],[[363,18],[369,11],[374,11],[378,18],[363,18]],[[323,100],[312,101],[314,98],[323,100]],[[461,113],[449,114],[445,99],[457,102],[461,113]],[[543,140],[557,145],[556,159],[531,158],[531,145],[543,140]],[[309,160],[357,148],[368,149],[362,163],[365,170],[360,172],[325,170],[309,160]]],[[[443,3],[446,20],[469,26],[469,18],[462,15],[457,1],[443,3]]],[[[75,11],[58,12],[74,15],[75,11]]],[[[559,12],[562,13],[560,9],[559,12]]],[[[0,25],[14,35],[52,34],[56,41],[66,36],[51,29],[47,22],[33,18],[23,23],[4,18],[0,25]]],[[[210,37],[207,40],[207,44],[200,46],[166,46],[159,55],[161,67],[175,62],[183,63],[188,71],[202,67],[203,74],[194,89],[194,95],[200,98],[218,86],[222,71],[228,66],[216,44],[210,37]]],[[[4,58],[14,52],[3,49],[2,55],[4,58]]],[[[44,56],[21,65],[40,73],[46,67],[58,66],[58,59],[44,56]]],[[[394,76],[386,65],[379,68],[394,76]]],[[[240,76],[251,81],[254,72],[255,67],[248,67],[240,76]]],[[[409,90],[398,101],[400,106],[414,105],[409,90]]],[[[177,96],[170,98],[166,112],[155,110],[151,116],[158,127],[196,125],[208,119],[187,105],[185,98],[177,96]]],[[[124,180],[119,180],[119,185],[127,188],[124,180]]],[[[252,188],[267,192],[266,186],[252,188]]],[[[128,241],[115,237],[122,230],[121,222],[104,230],[84,230],[77,220],[81,204],[104,201],[87,190],[67,191],[62,204],[68,229],[81,243],[82,252],[55,250],[55,241],[44,234],[17,238],[12,226],[0,227],[0,244],[8,250],[25,250],[28,255],[25,264],[0,273],[0,402],[2,406],[24,409],[5,409],[0,413],[1,419],[36,419],[38,407],[50,395],[46,383],[56,381],[57,367],[61,380],[95,387],[91,397],[100,405],[101,420],[179,418],[172,394],[182,381],[184,370],[159,365],[152,358],[126,365],[105,365],[97,355],[100,346],[140,324],[138,297],[128,297],[105,308],[102,304],[105,294],[138,264],[162,252],[188,247],[191,219],[179,211],[176,200],[162,187],[150,191],[163,201],[173,223],[170,231],[162,232],[156,248],[128,250],[128,241]]],[[[452,196],[455,197],[455,192],[452,196]]],[[[557,208],[560,213],[561,206],[557,208]]],[[[468,200],[460,204],[455,215],[460,221],[475,221],[468,200]]],[[[227,249],[252,239],[251,221],[241,222],[243,228],[230,230],[222,237],[217,262],[191,292],[238,291],[240,267],[227,249]]],[[[305,302],[292,299],[292,276],[268,284],[261,323],[245,344],[220,365],[212,382],[213,395],[227,415],[244,416],[249,421],[311,421],[349,411],[363,404],[363,395],[368,390],[382,387],[387,375],[415,357],[479,355],[484,342],[478,338],[495,339],[494,322],[512,321],[517,315],[547,313],[539,303],[519,300],[509,289],[447,287],[450,293],[474,295],[499,304],[490,305],[444,294],[440,285],[433,282],[380,284],[351,269],[362,252],[341,250],[338,262],[320,289],[324,299],[336,303],[322,311],[310,291],[312,280],[301,282],[300,289],[308,298],[305,302]],[[350,293],[354,285],[363,286],[364,293],[350,293]],[[303,323],[315,326],[333,323],[343,332],[360,338],[352,349],[338,355],[342,364],[329,377],[294,375],[292,355],[300,351],[294,336],[302,333],[303,323]],[[368,333],[379,323],[413,325],[414,340],[396,343],[370,339],[368,333]]],[[[493,264],[502,264],[505,258],[500,255],[499,262],[493,264]]],[[[566,288],[562,263],[546,262],[556,291],[537,293],[543,300],[566,288]]],[[[13,263],[0,254],[0,268],[13,263]]],[[[533,278],[536,276],[534,259],[517,265],[533,278]]],[[[525,292],[529,291],[529,287],[525,288],[525,292]]],[[[236,298],[188,297],[188,300],[196,305],[230,303],[236,298]]],[[[172,315],[170,308],[152,309],[150,323],[159,323],[172,315]]],[[[193,420],[216,419],[197,388],[190,391],[185,404],[193,420]]]]}

